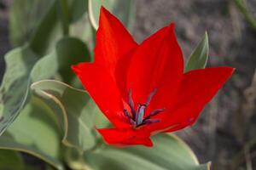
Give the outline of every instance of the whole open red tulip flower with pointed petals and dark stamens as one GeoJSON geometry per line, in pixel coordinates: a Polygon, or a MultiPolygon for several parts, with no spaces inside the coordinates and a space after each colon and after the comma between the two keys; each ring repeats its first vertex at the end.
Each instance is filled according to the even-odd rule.
{"type": "Polygon", "coordinates": [[[96,32],[94,63],[74,65],[84,88],[112,128],[98,129],[108,144],[152,146],[150,135],[192,125],[233,68],[183,73],[174,24],[137,44],[105,8],[96,32]]]}

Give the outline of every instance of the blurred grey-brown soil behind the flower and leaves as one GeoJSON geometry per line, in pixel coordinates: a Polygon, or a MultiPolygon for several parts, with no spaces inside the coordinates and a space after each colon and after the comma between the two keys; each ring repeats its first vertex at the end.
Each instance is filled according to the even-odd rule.
{"type": "MultiPolygon", "coordinates": [[[[228,65],[236,73],[201,113],[193,127],[177,134],[212,169],[256,167],[256,0],[247,0],[247,11],[235,0],[137,0],[132,35],[142,42],[170,22],[176,23],[184,58],[207,31],[210,57],[207,66],[228,65]]],[[[0,0],[0,82],[3,56],[9,41],[9,8],[0,0]]]]}

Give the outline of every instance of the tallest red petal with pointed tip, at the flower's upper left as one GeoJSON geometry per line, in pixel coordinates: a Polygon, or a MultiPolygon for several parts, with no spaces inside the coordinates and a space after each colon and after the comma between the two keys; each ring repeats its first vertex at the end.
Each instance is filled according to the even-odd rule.
{"type": "MultiPolygon", "coordinates": [[[[99,28],[96,31],[95,62],[113,70],[119,58],[137,47],[130,33],[113,14],[101,8],[99,28]]],[[[111,74],[113,71],[110,71],[111,74]]]]}

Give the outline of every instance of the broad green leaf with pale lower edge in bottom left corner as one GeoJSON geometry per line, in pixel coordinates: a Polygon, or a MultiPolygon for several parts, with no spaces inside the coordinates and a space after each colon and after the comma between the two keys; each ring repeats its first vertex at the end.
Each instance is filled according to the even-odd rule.
{"type": "Polygon", "coordinates": [[[63,169],[59,161],[61,137],[54,114],[48,105],[33,97],[0,137],[0,149],[23,151],[63,169]]]}

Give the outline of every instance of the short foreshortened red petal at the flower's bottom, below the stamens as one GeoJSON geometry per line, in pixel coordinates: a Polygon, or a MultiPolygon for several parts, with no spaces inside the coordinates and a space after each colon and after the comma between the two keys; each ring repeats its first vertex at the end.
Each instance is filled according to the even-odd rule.
{"type": "Polygon", "coordinates": [[[102,134],[104,141],[107,144],[116,146],[129,146],[142,144],[145,146],[153,146],[149,133],[142,133],[131,128],[117,129],[117,128],[102,128],[97,129],[102,134]]]}

